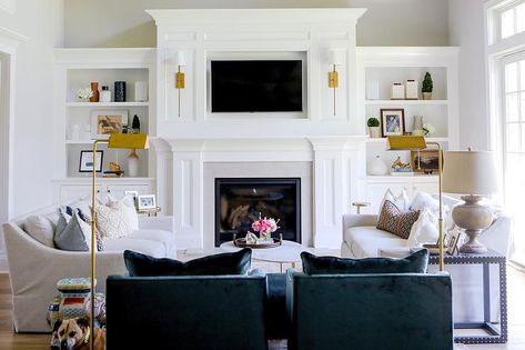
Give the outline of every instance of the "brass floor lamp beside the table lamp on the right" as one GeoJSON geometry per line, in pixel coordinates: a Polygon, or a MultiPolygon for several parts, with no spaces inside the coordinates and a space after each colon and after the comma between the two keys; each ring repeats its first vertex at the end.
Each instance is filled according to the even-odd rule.
{"type": "Polygon", "coordinates": [[[445,270],[445,254],[444,254],[444,228],[443,228],[443,149],[438,142],[426,142],[424,137],[418,136],[391,136],[388,137],[390,150],[422,150],[428,144],[437,147],[437,176],[440,182],[440,271],[445,270]]]}

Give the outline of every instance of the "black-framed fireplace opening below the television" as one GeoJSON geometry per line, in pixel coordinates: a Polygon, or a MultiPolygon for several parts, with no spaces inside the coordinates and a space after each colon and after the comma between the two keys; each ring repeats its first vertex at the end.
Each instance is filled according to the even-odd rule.
{"type": "Polygon", "coordinates": [[[301,179],[216,178],[215,247],[244,237],[253,220],[280,220],[272,237],[301,242],[301,179]]]}

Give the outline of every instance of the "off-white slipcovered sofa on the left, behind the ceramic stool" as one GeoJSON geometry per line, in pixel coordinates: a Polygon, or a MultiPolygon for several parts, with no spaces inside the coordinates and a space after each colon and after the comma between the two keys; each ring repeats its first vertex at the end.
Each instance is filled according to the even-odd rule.
{"type": "MultiPolygon", "coordinates": [[[[47,308],[58,294],[57,282],[63,278],[89,277],[90,252],[49,248],[24,231],[30,216],[54,218],[58,206],[28,213],[3,224],[9,276],[12,289],[13,326],[17,332],[48,332],[47,308]]],[[[139,230],[131,236],[104,240],[104,251],[97,252],[97,291],[105,292],[109,274],[125,273],[125,249],[157,258],[176,258],[172,217],[139,217],[139,230]]]]}

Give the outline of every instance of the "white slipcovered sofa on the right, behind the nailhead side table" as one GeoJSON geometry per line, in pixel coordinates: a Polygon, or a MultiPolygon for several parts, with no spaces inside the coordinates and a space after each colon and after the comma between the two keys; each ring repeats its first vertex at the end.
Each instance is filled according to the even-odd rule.
{"type": "MultiPolygon", "coordinates": [[[[444,204],[453,208],[460,201],[444,197],[444,204]]],[[[345,214],[343,216],[343,241],[341,256],[345,258],[401,258],[410,254],[411,247],[407,240],[393,233],[376,229],[375,214],[345,214]]],[[[479,241],[488,249],[508,257],[512,219],[503,212],[495,214],[492,226],[485,230],[479,241]]],[[[436,266],[428,268],[436,271],[436,266]]],[[[454,322],[472,322],[483,320],[483,277],[482,266],[461,264],[446,266],[445,270],[452,276],[454,322]]],[[[497,267],[491,267],[491,318],[497,322],[499,317],[499,281],[497,267]]]]}

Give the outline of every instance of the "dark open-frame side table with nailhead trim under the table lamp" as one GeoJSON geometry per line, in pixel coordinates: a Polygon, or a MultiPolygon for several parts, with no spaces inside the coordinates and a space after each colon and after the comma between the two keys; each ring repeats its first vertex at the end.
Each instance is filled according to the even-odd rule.
{"type": "MultiPolygon", "coordinates": [[[[440,257],[431,256],[428,263],[438,264],[440,257]]],[[[447,264],[481,264],[483,267],[483,321],[454,323],[455,329],[483,329],[487,336],[458,336],[455,342],[461,343],[505,343],[507,342],[507,274],[506,258],[501,253],[488,250],[482,254],[458,253],[445,254],[447,264]],[[499,329],[491,322],[491,264],[499,268],[499,329]]]]}

